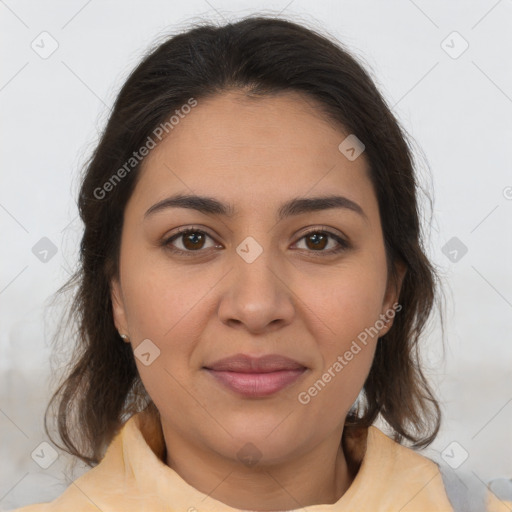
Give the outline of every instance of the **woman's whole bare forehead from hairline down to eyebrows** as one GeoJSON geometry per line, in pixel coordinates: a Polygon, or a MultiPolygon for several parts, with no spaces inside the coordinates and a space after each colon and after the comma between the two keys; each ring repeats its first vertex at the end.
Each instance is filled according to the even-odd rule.
{"type": "Polygon", "coordinates": [[[194,192],[238,213],[343,193],[375,207],[368,204],[375,196],[364,153],[350,161],[338,149],[347,135],[299,93],[247,98],[237,91],[198,100],[146,157],[132,199],[149,207],[177,191],[194,192]]]}

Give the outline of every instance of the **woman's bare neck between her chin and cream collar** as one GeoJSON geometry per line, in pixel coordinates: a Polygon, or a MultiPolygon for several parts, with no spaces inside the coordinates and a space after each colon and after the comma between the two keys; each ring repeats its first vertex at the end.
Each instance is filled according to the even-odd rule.
{"type": "Polygon", "coordinates": [[[339,431],[300,456],[273,464],[261,459],[250,467],[192,446],[165,428],[164,437],[169,467],[200,492],[241,510],[291,510],[336,503],[355,476],[339,431]]]}

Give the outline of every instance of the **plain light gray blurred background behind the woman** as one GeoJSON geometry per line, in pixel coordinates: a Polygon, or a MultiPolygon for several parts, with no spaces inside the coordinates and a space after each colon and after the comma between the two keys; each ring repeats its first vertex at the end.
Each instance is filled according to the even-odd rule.
{"type": "Polygon", "coordinates": [[[78,170],[108,107],[157,37],[188,21],[254,12],[281,13],[345,43],[415,138],[434,197],[427,249],[447,299],[446,353],[438,320],[425,337],[444,423],[424,453],[456,466],[467,452],[449,469],[475,487],[512,477],[511,0],[0,0],[1,510],[67,486],[62,452],[46,470],[31,458],[48,441],[49,340],[61,306],[47,305],[76,261],[78,170]],[[43,31],[58,43],[46,59],[31,47],[50,48],[43,31]],[[460,56],[464,41],[453,31],[469,44],[460,56]],[[43,237],[57,248],[47,262],[32,252],[43,237]],[[456,262],[443,252],[453,237],[467,247],[456,262]]]}

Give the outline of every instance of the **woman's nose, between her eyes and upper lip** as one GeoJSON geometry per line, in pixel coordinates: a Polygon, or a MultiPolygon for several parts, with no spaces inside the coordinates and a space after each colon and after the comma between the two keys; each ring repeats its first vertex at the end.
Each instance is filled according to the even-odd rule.
{"type": "Polygon", "coordinates": [[[263,251],[251,263],[236,254],[227,278],[218,308],[224,324],[259,334],[291,323],[295,299],[290,279],[270,251],[263,251]]]}

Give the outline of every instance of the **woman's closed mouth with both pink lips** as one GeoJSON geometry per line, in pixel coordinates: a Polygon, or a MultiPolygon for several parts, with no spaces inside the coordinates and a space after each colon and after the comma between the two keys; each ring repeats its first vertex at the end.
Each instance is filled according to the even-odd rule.
{"type": "Polygon", "coordinates": [[[262,398],[295,383],[307,370],[293,359],[267,355],[259,358],[237,354],[203,367],[217,383],[238,395],[262,398]]]}

